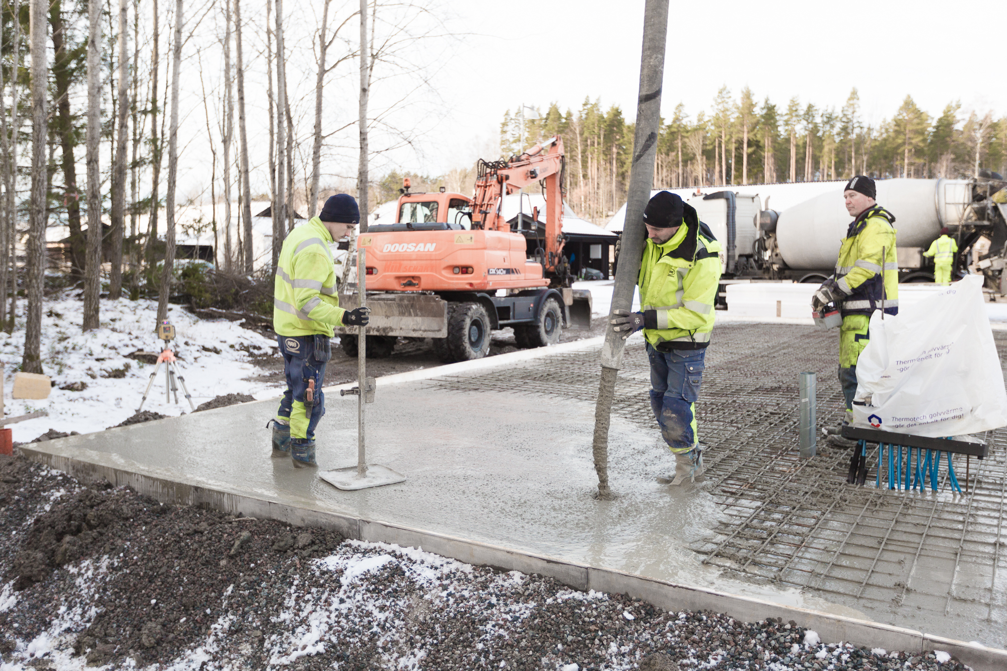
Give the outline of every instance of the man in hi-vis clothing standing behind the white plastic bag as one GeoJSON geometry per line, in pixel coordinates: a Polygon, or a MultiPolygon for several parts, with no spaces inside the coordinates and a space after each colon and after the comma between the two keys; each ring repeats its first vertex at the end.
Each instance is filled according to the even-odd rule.
{"type": "MultiPolygon", "coordinates": [[[[846,212],[853,217],[841,241],[836,272],[822,283],[812,298],[820,311],[835,303],[843,316],[839,329],[839,383],[846,401],[844,423],[853,421],[853,397],[857,392],[857,359],[867,347],[868,325],[874,310],[898,314],[898,263],[895,216],[875,202],[874,180],[862,174],[843,189],[846,212]]],[[[852,447],[855,443],[832,429],[828,441],[852,447]]]]}

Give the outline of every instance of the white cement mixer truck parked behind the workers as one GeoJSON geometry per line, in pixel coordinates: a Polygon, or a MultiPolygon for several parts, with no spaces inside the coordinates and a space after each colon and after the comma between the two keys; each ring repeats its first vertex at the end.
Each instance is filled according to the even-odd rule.
{"type": "MultiPolygon", "coordinates": [[[[817,283],[833,273],[839,241],[850,224],[842,197],[845,183],[757,184],[705,193],[673,190],[722,241],[724,284],[817,283]],[[817,194],[802,196],[813,189],[817,194]],[[784,195],[794,205],[779,211],[766,207],[773,197],[784,195]]],[[[999,174],[981,171],[974,179],[896,178],[876,183],[878,204],[896,218],[899,281],[933,281],[932,262],[922,253],[948,227],[959,247],[954,276],[971,266],[986,276],[987,288],[1007,293],[1007,204],[1003,203],[1007,191],[995,195],[1007,181],[999,174]]],[[[620,230],[621,224],[616,222],[609,230],[620,230]]]]}

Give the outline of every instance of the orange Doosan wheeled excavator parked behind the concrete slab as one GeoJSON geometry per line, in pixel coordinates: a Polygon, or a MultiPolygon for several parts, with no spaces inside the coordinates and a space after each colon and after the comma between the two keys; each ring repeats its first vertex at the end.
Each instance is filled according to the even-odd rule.
{"type": "MultiPolygon", "coordinates": [[[[480,160],[474,198],[444,187],[410,192],[405,180],[395,223],[357,238],[372,308],[368,355],[390,355],[402,336],[433,339],[442,361],[466,361],[486,356],[492,329],[512,326],[530,348],[558,343],[561,328],[590,327],[591,294],[571,288],[563,256],[563,141],[553,137],[510,160],[480,160]],[[503,198],[536,183],[545,226],[537,209],[507,220],[503,198]]],[[[355,306],[356,296],[339,304],[355,306]]],[[[356,356],[353,330],[336,328],[348,356],[356,356]]]]}

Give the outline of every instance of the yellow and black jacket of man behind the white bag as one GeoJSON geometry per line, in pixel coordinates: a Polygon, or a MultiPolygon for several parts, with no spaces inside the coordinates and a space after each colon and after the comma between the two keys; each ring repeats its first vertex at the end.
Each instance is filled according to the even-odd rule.
{"type": "Polygon", "coordinates": [[[898,313],[898,255],[895,250],[895,217],[880,207],[861,213],[850,224],[839,248],[836,284],[846,294],[840,311],[871,314],[881,309],[898,313]],[[882,250],[884,258],[881,258],[882,250]],[[881,282],[882,264],[884,284],[881,282]]]}

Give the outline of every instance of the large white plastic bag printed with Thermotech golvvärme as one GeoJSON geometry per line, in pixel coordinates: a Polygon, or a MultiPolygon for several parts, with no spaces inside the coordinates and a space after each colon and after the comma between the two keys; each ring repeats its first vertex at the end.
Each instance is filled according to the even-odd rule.
{"type": "Polygon", "coordinates": [[[854,423],[946,437],[1007,426],[1007,391],[983,302],[983,278],[871,315],[857,361],[854,423]]]}

